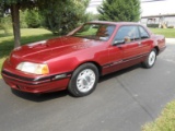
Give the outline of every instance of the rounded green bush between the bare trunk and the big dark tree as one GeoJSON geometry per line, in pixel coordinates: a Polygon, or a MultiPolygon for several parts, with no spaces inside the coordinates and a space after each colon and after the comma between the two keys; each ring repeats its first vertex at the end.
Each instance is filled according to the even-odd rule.
{"type": "Polygon", "coordinates": [[[40,16],[37,9],[27,10],[25,21],[28,27],[37,28],[40,26],[40,16]]]}

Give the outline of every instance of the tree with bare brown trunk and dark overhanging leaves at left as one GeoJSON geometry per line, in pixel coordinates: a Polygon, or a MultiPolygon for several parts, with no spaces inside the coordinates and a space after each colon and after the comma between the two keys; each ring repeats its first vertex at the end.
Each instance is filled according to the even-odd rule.
{"type": "Polygon", "coordinates": [[[0,7],[3,11],[10,9],[13,25],[14,47],[21,45],[21,32],[20,32],[20,9],[30,9],[35,7],[36,0],[0,0],[0,7]]]}

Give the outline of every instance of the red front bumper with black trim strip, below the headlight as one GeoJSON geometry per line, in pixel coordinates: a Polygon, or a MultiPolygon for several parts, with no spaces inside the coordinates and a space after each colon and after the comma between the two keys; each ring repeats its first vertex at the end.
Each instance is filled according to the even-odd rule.
{"type": "Polygon", "coordinates": [[[12,88],[27,93],[49,93],[66,90],[71,76],[69,72],[42,78],[26,78],[7,70],[2,70],[1,74],[4,82],[12,88]]]}

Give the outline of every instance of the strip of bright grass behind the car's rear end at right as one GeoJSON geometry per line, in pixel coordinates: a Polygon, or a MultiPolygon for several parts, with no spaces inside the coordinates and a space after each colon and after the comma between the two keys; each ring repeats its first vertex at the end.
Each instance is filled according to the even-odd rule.
{"type": "Polygon", "coordinates": [[[175,38],[175,28],[150,28],[152,33],[164,35],[166,38],[175,38]]]}

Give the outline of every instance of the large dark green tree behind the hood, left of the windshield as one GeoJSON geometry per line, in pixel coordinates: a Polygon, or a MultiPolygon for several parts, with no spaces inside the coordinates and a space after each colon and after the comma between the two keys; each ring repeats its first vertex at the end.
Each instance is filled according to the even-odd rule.
{"type": "Polygon", "coordinates": [[[49,0],[39,5],[44,26],[54,34],[65,35],[88,21],[85,10],[90,0],[49,0]]]}

